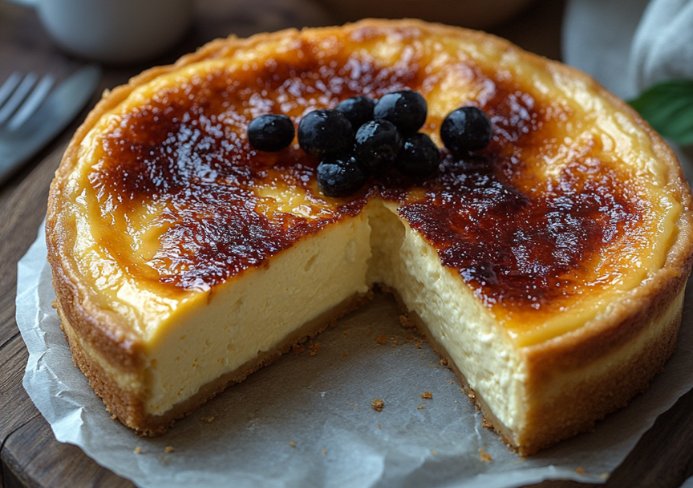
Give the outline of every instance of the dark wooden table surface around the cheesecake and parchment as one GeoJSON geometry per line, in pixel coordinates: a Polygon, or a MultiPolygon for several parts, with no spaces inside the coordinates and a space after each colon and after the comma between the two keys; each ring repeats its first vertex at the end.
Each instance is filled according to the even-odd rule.
{"type": "MultiPolygon", "coordinates": [[[[563,2],[540,0],[493,30],[520,46],[560,59],[563,2]]],[[[339,23],[309,0],[200,0],[195,25],[167,55],[147,65],[105,67],[100,89],[125,82],[152,64],[164,64],[215,37],[284,27],[339,23]],[[271,12],[272,15],[266,15],[271,12]]],[[[65,77],[82,62],[63,54],[44,33],[35,13],[0,3],[0,80],[14,70],[65,77]]],[[[95,94],[88,109],[98,99],[95,94]]],[[[36,238],[45,215],[48,187],[65,144],[87,110],[0,188],[0,488],[21,486],[133,486],[88,458],[78,447],[55,440],[22,387],[28,353],[15,323],[17,261],[36,238]]],[[[693,391],[663,414],[613,473],[607,487],[678,487],[693,476],[693,391]]],[[[540,486],[580,486],[570,481],[540,486]]],[[[585,485],[586,486],[586,485],[585,485]]]]}

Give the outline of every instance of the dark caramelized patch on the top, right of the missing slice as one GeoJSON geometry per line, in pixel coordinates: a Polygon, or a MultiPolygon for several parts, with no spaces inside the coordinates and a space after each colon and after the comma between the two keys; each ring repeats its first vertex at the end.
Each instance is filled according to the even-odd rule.
{"type": "Polygon", "coordinates": [[[529,197],[500,181],[486,157],[494,155],[448,156],[426,198],[400,214],[488,304],[539,309],[584,291],[601,251],[638,223],[636,199],[614,174],[584,178],[579,163],[529,197]]]}

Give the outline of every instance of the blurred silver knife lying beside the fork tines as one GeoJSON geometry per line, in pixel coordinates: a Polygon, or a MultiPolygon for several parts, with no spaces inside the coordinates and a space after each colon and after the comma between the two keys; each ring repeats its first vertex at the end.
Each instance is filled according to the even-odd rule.
{"type": "Polygon", "coordinates": [[[0,130],[0,185],[62,132],[89,101],[100,79],[101,69],[96,65],[77,70],[20,128],[0,130]]]}

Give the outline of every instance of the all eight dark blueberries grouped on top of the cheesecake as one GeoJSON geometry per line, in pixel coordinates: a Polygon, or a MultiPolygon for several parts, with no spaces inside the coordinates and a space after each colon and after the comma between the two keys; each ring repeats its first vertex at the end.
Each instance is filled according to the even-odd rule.
{"type": "MultiPolygon", "coordinates": [[[[353,97],[334,110],[315,110],[298,125],[298,143],[320,158],[318,188],[329,197],[357,192],[368,175],[388,166],[404,175],[424,178],[440,164],[438,147],[417,132],[426,121],[428,105],[411,90],[389,93],[375,101],[353,97]]],[[[248,140],[260,151],[280,151],[291,144],[294,125],[286,115],[262,115],[248,125],[248,140]]],[[[488,145],[493,126],[476,107],[462,107],[445,117],[440,137],[452,153],[488,145]]]]}

